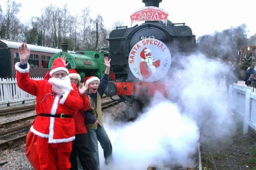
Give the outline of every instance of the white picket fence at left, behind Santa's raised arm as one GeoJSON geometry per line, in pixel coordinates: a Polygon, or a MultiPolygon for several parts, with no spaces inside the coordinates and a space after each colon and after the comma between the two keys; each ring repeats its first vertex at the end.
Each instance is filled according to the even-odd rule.
{"type": "MultiPolygon", "coordinates": [[[[34,77],[33,80],[42,80],[43,77],[34,77]]],[[[0,78],[0,105],[7,104],[10,106],[10,103],[22,102],[29,100],[35,100],[36,97],[26,93],[17,86],[16,78],[0,78]]]]}

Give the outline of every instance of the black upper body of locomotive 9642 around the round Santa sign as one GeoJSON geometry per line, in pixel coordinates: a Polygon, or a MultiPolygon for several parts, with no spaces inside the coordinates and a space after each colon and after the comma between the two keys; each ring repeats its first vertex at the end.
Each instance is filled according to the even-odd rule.
{"type": "MultiPolygon", "coordinates": [[[[159,6],[162,0],[143,0],[145,6],[159,6]]],[[[117,81],[133,82],[135,76],[128,66],[128,57],[132,47],[139,41],[146,38],[155,38],[162,41],[172,55],[172,65],[170,68],[179,66],[178,57],[195,51],[195,35],[185,23],[172,23],[167,20],[167,24],[162,21],[145,21],[141,25],[131,28],[117,28],[109,35],[109,49],[111,58],[111,70],[115,73],[117,81]]]]}

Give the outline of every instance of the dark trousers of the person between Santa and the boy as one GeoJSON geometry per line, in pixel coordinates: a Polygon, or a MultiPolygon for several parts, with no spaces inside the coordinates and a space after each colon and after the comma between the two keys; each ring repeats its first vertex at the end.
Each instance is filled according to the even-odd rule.
{"type": "Polygon", "coordinates": [[[71,163],[72,170],[78,170],[77,168],[77,155],[83,169],[95,170],[95,163],[91,156],[91,152],[88,148],[88,134],[76,134],[76,139],[72,143],[72,151],[70,154],[69,161],[71,163]]]}

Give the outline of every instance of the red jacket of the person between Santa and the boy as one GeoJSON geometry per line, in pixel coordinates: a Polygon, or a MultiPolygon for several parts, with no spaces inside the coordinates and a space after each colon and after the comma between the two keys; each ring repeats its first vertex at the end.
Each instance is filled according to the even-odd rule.
{"type": "Polygon", "coordinates": [[[74,115],[75,125],[76,125],[76,134],[87,133],[85,126],[85,116],[84,111],[90,109],[90,101],[86,94],[80,95],[83,99],[83,107],[77,111],[74,115]]]}

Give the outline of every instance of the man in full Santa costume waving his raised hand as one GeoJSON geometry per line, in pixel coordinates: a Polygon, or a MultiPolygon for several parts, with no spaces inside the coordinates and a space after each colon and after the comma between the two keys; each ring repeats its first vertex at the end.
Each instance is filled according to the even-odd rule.
{"type": "Polygon", "coordinates": [[[60,58],[55,59],[49,80],[29,78],[30,50],[19,47],[20,62],[15,64],[18,86],[36,96],[37,117],[30,131],[37,135],[40,169],[69,169],[75,124],[72,115],[82,107],[77,87],[70,83],[68,70],[60,58]]]}

